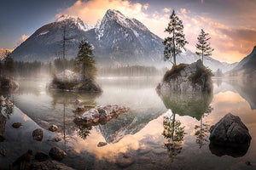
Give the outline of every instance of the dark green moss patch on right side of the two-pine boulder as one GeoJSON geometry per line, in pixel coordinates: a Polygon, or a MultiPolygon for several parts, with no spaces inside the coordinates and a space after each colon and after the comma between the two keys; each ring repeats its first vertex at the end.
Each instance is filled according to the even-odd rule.
{"type": "Polygon", "coordinates": [[[207,67],[203,66],[203,67],[198,67],[195,73],[189,76],[189,80],[193,83],[198,83],[203,85],[204,82],[207,81],[207,78],[212,76],[213,76],[212,71],[207,67]]]}

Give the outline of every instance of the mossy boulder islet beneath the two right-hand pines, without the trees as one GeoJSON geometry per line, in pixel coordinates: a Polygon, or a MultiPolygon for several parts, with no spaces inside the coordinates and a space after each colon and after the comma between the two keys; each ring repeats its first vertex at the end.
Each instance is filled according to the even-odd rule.
{"type": "Polygon", "coordinates": [[[156,90],[159,92],[211,92],[212,72],[198,59],[190,65],[173,65],[156,90]]]}

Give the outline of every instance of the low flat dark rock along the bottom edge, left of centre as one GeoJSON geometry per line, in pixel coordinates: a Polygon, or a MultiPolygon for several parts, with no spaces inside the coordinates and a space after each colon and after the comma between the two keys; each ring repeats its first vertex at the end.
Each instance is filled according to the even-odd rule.
{"type": "Polygon", "coordinates": [[[73,170],[72,167],[67,167],[65,164],[58,162],[58,161],[42,161],[32,163],[31,168],[32,170],[73,170]]]}

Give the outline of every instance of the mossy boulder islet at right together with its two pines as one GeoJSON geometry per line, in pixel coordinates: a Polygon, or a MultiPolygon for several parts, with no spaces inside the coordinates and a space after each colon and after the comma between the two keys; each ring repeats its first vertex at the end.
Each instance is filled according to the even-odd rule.
{"type": "Polygon", "coordinates": [[[201,29],[201,34],[197,37],[196,54],[201,56],[195,63],[190,65],[176,63],[177,55],[186,50],[184,46],[189,43],[183,34],[183,21],[180,20],[175,11],[172,10],[170,22],[166,28],[170,37],[166,37],[164,60],[172,63],[172,69],[166,71],[162,82],[159,83],[156,90],[160,93],[166,92],[208,92],[212,91],[212,71],[203,65],[204,56],[212,55],[213,49],[207,42],[210,37],[208,33],[201,29]]]}

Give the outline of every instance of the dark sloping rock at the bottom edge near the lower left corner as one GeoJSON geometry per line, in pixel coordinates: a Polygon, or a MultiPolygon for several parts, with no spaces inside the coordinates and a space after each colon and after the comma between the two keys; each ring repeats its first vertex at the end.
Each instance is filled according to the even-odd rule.
{"type": "Polygon", "coordinates": [[[13,162],[10,169],[29,169],[32,161],[32,150],[27,150],[25,154],[18,157],[16,161],[13,162]]]}

